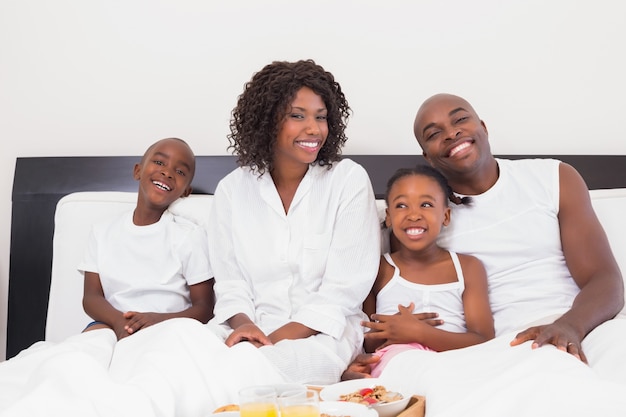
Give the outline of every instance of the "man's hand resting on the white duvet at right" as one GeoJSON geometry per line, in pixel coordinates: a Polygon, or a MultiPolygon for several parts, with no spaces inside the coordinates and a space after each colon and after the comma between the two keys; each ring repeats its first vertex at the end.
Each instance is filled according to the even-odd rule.
{"type": "Polygon", "coordinates": [[[581,346],[581,337],[574,328],[565,323],[555,321],[552,324],[530,327],[518,333],[510,344],[511,346],[517,346],[528,340],[534,340],[532,344],[533,349],[546,344],[554,345],[557,349],[574,355],[584,363],[587,363],[587,357],[581,346]]]}

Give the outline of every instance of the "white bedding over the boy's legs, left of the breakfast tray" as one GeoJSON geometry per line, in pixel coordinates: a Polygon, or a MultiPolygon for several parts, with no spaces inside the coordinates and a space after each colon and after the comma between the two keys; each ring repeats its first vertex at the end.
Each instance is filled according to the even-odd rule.
{"type": "Polygon", "coordinates": [[[109,330],[40,342],[0,364],[1,416],[208,416],[247,385],[283,382],[250,344],[173,319],[115,343],[109,330]]]}

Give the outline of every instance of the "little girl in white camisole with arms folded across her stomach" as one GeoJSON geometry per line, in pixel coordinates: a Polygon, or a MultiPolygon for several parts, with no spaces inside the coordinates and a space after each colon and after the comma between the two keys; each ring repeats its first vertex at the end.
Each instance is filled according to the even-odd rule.
{"type": "Polygon", "coordinates": [[[426,165],[400,169],[387,183],[385,226],[391,229],[394,249],[380,259],[364,303],[372,321],[362,323],[370,329],[366,352],[380,356],[372,376],[407,349],[458,349],[494,337],[482,263],[437,245],[442,227],[450,222],[449,196],[469,202],[452,194],[446,179],[426,165]],[[414,315],[431,311],[438,317],[435,326],[414,315]]]}

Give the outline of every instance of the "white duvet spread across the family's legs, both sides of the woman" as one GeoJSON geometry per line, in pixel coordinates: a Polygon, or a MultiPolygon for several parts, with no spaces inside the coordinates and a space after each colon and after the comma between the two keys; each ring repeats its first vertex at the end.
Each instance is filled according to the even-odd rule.
{"type": "MultiPolygon", "coordinates": [[[[626,347],[593,343],[626,328],[613,322],[585,340],[599,370],[553,347],[512,348],[513,335],[504,335],[445,353],[402,353],[381,379],[425,395],[428,417],[625,416],[626,347]]],[[[0,364],[0,415],[208,416],[237,402],[245,385],[279,382],[256,348],[229,349],[201,324],[175,319],[119,343],[96,330],[33,345],[0,364]]]]}

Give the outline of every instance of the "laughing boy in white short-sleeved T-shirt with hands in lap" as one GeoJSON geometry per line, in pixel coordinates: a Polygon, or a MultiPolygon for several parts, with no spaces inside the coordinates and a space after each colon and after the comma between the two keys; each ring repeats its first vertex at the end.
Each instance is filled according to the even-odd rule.
{"type": "Polygon", "coordinates": [[[170,204],[191,193],[195,156],[178,138],[162,139],[135,164],[137,206],[94,225],[79,265],[83,307],[120,340],[174,317],[212,317],[212,271],[204,229],[173,215],[170,204]]]}

